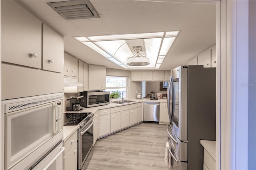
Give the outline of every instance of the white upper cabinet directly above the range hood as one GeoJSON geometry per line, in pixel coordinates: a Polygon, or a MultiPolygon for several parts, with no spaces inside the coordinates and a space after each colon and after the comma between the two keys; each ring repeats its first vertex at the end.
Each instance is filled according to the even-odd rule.
{"type": "Polygon", "coordinates": [[[78,76],[78,59],[71,55],[64,53],[64,76],[70,78],[77,78],[78,76]]]}

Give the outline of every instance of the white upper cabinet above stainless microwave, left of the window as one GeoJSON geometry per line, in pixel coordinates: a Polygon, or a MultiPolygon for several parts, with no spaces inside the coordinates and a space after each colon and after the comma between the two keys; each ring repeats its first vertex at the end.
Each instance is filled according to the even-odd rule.
{"type": "Polygon", "coordinates": [[[89,65],[89,90],[106,89],[106,67],[89,65]]]}

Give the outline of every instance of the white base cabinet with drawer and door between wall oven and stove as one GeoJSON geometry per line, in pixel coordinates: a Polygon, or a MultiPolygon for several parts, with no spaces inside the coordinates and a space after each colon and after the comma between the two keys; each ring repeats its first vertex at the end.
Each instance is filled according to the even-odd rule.
{"type": "Polygon", "coordinates": [[[77,131],[64,141],[64,169],[77,169],[77,131]]]}

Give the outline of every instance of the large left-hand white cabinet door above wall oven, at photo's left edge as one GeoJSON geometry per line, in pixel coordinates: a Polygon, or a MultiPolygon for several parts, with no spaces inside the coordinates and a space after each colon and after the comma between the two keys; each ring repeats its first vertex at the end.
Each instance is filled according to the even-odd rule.
{"type": "Polygon", "coordinates": [[[12,0],[1,6],[2,61],[41,69],[42,22],[12,0]]]}

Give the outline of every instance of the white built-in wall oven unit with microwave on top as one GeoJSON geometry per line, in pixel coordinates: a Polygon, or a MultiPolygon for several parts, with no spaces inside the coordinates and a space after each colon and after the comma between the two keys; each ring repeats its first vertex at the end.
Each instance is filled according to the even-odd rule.
{"type": "Polygon", "coordinates": [[[6,170],[62,169],[63,93],[2,101],[6,170]]]}

